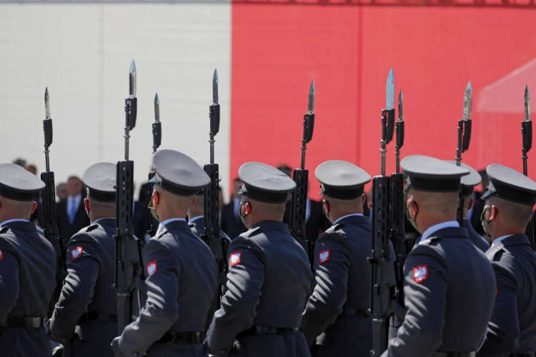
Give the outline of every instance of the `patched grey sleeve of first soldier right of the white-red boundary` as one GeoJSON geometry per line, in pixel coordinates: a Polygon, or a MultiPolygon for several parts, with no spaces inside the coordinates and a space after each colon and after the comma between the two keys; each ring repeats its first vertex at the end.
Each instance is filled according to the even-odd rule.
{"type": "Polygon", "coordinates": [[[226,356],[239,332],[253,325],[264,282],[264,254],[252,241],[238,236],[229,246],[227,291],[207,333],[209,350],[226,356]]]}

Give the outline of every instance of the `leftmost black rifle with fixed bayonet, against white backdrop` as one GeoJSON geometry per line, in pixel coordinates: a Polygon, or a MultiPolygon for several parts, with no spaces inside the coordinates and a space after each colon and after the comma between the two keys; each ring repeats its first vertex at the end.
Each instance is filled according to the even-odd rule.
{"type": "Polygon", "coordinates": [[[56,252],[56,291],[51,300],[51,311],[54,311],[54,304],[59,298],[64,278],[67,276],[66,269],[66,239],[60,238],[58,234],[58,221],[56,219],[56,184],[54,183],[54,172],[50,171],[50,146],[52,145],[53,131],[52,119],[50,116],[49,89],[45,89],[45,119],[43,121],[44,131],[44,154],[46,171],[41,173],[41,181],[45,183],[45,188],[41,192],[43,201],[43,231],[45,238],[52,244],[56,252]]]}

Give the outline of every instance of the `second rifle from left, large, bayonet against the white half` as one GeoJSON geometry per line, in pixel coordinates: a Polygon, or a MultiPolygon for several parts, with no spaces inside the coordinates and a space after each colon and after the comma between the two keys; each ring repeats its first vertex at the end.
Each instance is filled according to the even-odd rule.
{"type": "Polygon", "coordinates": [[[136,126],[136,64],[132,61],[129,72],[129,97],[125,99],[124,126],[125,159],[117,163],[116,176],[116,234],[114,288],[117,291],[117,323],[119,335],[132,322],[134,290],[142,286],[143,267],[140,251],[143,241],[132,231],[134,202],[134,161],[129,160],[130,131],[136,126]]]}

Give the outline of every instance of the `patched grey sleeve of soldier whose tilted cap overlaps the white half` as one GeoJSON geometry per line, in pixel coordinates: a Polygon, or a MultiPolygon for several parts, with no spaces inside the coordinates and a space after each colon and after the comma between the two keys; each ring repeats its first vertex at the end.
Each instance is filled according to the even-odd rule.
{"type": "Polygon", "coordinates": [[[119,348],[126,356],[142,356],[179,318],[179,262],[162,241],[144,246],[147,300],[139,318],[123,331],[119,348]]]}

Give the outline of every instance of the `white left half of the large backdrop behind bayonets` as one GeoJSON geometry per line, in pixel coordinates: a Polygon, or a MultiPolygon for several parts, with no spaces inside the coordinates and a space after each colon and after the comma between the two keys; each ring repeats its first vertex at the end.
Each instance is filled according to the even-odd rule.
{"type": "MultiPolygon", "coordinates": [[[[0,161],[44,170],[44,89],[54,119],[56,182],[124,156],[124,98],[136,60],[138,120],[131,132],[137,184],[152,153],[154,94],[161,149],[209,161],[212,73],[219,71],[222,125],[216,160],[229,180],[229,4],[0,4],[0,161]]],[[[227,196],[227,192],[225,194],[227,196]]]]}

